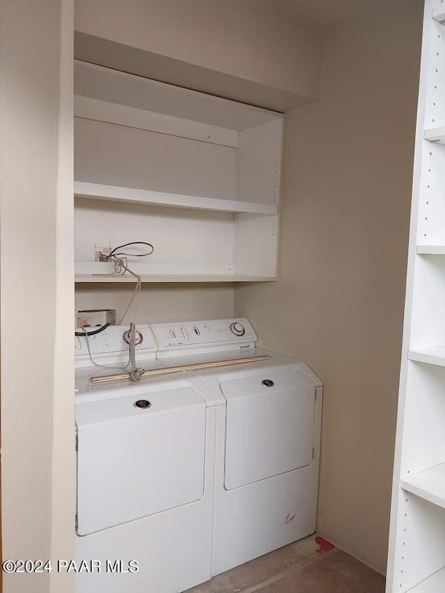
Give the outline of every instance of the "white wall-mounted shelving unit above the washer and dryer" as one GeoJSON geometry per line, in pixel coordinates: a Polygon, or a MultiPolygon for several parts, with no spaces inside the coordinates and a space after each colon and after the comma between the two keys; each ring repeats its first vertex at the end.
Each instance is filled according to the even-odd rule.
{"type": "Polygon", "coordinates": [[[283,115],[76,60],[76,282],[276,279],[283,115]],[[137,253],[137,252],[135,252],[137,253]]]}

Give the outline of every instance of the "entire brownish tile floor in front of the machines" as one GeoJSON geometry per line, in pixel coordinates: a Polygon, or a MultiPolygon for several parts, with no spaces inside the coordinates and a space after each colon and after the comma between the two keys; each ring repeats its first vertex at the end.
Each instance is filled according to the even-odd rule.
{"type": "Polygon", "coordinates": [[[213,577],[187,593],[385,593],[385,577],[311,536],[213,577]]]}

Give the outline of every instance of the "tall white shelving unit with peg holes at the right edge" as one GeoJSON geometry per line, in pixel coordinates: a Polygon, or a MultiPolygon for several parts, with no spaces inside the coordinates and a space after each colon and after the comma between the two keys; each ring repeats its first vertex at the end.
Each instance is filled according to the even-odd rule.
{"type": "Polygon", "coordinates": [[[445,1],[426,0],[387,593],[445,591],[445,1]]]}

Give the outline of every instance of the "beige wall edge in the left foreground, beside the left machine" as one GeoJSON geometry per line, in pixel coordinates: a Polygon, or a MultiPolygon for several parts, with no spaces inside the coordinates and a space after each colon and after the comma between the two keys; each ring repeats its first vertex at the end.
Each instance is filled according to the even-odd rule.
{"type": "MultiPolygon", "coordinates": [[[[59,120],[58,92],[62,6],[64,17],[70,20],[70,0],[1,2],[1,504],[5,560],[45,560],[51,552],[55,558],[72,558],[74,553],[74,382],[70,375],[60,381],[55,365],[57,350],[56,361],[62,365],[70,361],[72,366],[73,350],[72,329],[63,334],[66,323],[56,327],[56,315],[63,316],[63,307],[72,310],[72,276],[68,271],[65,279],[60,277],[60,266],[67,257],[67,269],[72,269],[72,245],[66,243],[69,236],[60,235],[66,222],[70,224],[72,209],[70,166],[67,176],[58,168],[59,124],[63,122],[59,120]],[[60,201],[67,206],[60,209],[60,201]],[[65,398],[71,407],[57,415],[57,429],[53,430],[53,416],[58,405],[65,405],[65,398]],[[58,521],[57,528],[63,527],[57,541],[51,540],[51,517],[58,521]]],[[[67,23],[68,31],[70,28],[72,16],[71,25],[67,23]]],[[[69,48],[69,39],[67,42],[69,48]]],[[[69,84],[72,61],[67,64],[69,84]]],[[[69,86],[65,92],[70,92],[69,86]]],[[[65,117],[70,122],[72,113],[65,111],[65,117]]],[[[69,140],[68,132],[65,143],[69,140]]],[[[3,590],[47,593],[53,590],[49,580],[47,572],[6,574],[3,590]]]]}

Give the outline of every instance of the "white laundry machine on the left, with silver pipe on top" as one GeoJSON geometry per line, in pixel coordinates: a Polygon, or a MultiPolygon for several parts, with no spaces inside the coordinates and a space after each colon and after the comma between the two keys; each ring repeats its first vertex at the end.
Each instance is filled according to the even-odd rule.
{"type": "MultiPolygon", "coordinates": [[[[94,359],[126,363],[127,329],[92,336],[94,359]]],[[[137,329],[138,365],[163,366],[149,327],[137,329]]],[[[115,368],[80,368],[90,364],[78,337],[76,559],[87,569],[76,575],[76,592],[176,593],[208,580],[215,399],[193,373],[92,384],[92,375],[115,368]]]]}

